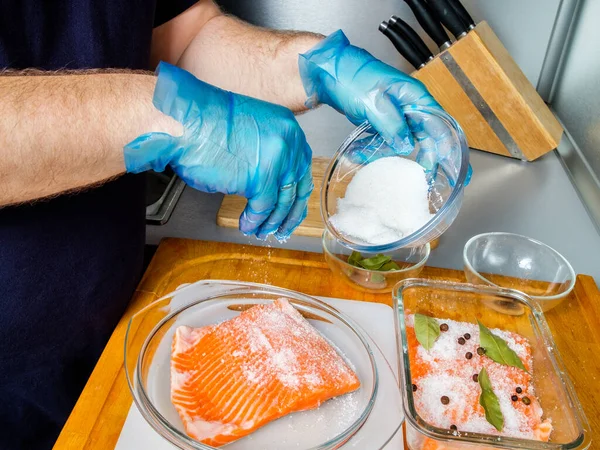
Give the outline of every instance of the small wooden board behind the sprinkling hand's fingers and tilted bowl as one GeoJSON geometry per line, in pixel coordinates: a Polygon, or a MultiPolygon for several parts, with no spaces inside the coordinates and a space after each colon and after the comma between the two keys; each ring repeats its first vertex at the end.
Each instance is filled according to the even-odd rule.
{"type": "MultiPolygon", "coordinates": [[[[321,219],[321,192],[320,186],[325,170],[329,164],[329,158],[313,158],[313,179],[315,189],[308,199],[308,215],[306,219],[296,228],[296,236],[321,237],[324,230],[321,219]]],[[[240,215],[246,207],[246,199],[238,195],[226,195],[217,213],[217,225],[227,228],[237,228],[240,215]]]]}

